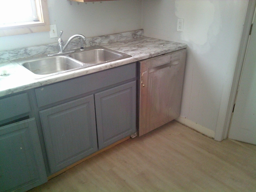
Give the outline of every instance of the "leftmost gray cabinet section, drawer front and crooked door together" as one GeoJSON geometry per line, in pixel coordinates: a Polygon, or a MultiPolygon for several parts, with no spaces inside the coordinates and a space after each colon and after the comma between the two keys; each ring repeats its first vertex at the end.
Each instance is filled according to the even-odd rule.
{"type": "Polygon", "coordinates": [[[47,182],[28,95],[0,98],[0,192],[27,191],[47,182]]]}

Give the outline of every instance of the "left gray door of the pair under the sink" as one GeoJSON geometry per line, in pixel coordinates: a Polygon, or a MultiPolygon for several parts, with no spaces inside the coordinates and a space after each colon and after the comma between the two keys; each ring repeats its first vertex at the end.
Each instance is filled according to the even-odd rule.
{"type": "Polygon", "coordinates": [[[98,150],[93,95],[39,113],[50,174],[98,150]]]}

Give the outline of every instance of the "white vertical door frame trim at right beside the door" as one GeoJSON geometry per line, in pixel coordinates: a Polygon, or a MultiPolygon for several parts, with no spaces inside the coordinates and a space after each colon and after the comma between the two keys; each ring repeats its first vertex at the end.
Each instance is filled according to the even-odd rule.
{"type": "Polygon", "coordinates": [[[256,7],[256,0],[249,0],[247,10],[246,10],[246,17],[244,20],[242,36],[240,40],[240,46],[238,50],[238,56],[236,59],[233,79],[232,79],[231,87],[229,90],[228,102],[226,102],[226,98],[222,97],[222,100],[220,103],[220,110],[219,110],[218,121],[217,121],[217,126],[215,131],[215,137],[214,137],[214,140],[217,140],[217,141],[222,141],[223,139],[226,139],[228,137],[228,130],[230,128],[234,102],[236,99],[236,93],[238,91],[238,83],[239,83],[241,72],[242,72],[242,66],[243,66],[244,57],[246,54],[246,48],[249,40],[249,33],[250,33],[251,24],[252,24],[252,19],[254,16],[255,7],[256,7]]]}

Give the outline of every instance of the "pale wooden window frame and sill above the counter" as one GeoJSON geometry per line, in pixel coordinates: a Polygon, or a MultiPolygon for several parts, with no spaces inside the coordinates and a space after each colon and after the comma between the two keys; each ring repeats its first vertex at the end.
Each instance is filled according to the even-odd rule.
{"type": "Polygon", "coordinates": [[[0,37],[50,31],[47,0],[35,1],[39,21],[17,23],[0,27],[0,37]]]}

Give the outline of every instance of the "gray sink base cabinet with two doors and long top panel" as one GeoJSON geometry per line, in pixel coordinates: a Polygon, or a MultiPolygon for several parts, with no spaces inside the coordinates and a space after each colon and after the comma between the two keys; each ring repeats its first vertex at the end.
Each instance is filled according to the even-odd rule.
{"type": "Polygon", "coordinates": [[[34,94],[48,175],[136,132],[136,63],[42,86],[34,94]]]}

